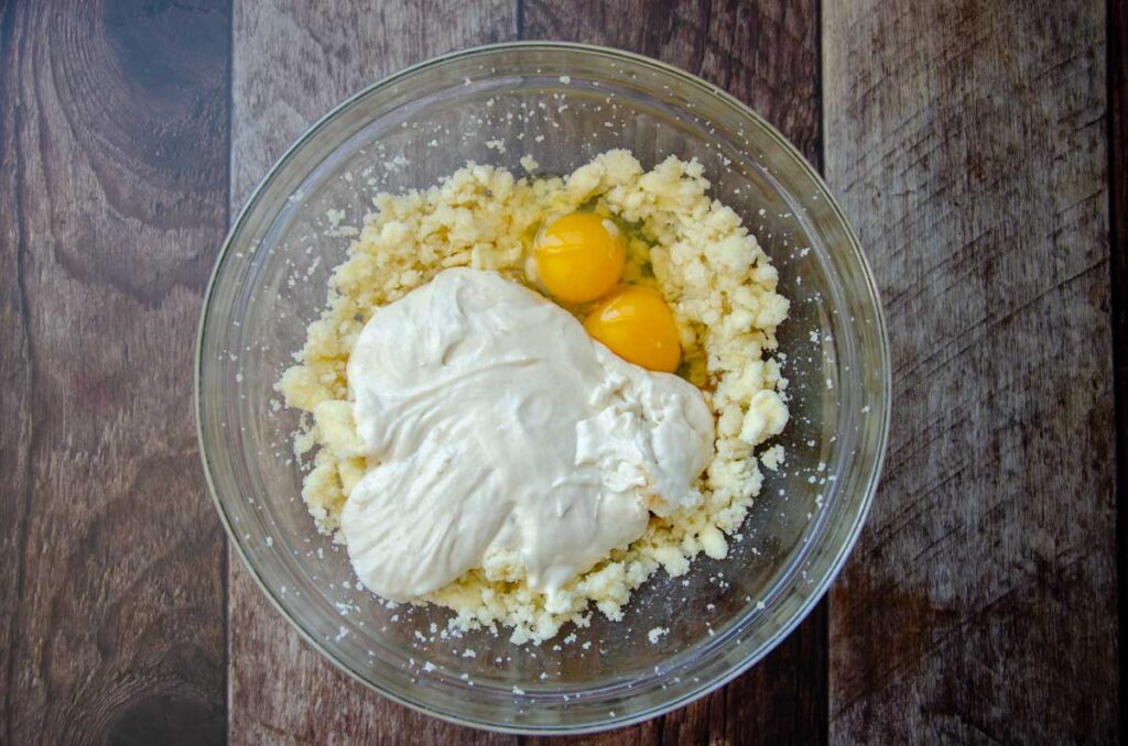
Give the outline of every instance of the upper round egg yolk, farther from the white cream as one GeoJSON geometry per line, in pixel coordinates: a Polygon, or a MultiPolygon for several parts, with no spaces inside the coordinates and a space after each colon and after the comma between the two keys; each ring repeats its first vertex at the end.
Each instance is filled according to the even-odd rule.
{"type": "Polygon", "coordinates": [[[537,276],[564,303],[587,303],[615,287],[627,251],[615,223],[590,212],[550,220],[534,242],[537,276]]]}

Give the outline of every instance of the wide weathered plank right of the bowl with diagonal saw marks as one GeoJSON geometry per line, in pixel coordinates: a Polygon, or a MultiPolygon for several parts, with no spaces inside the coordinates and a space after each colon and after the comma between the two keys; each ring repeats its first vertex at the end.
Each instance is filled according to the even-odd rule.
{"type": "Polygon", "coordinates": [[[835,743],[1117,738],[1104,24],[1095,0],[825,8],[826,170],[897,396],[831,593],[835,743]]]}

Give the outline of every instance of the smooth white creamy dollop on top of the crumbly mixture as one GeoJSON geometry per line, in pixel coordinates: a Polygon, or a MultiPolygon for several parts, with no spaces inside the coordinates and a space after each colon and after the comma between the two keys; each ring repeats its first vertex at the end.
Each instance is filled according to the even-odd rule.
{"type": "Polygon", "coordinates": [[[408,601],[487,557],[549,595],[702,500],[700,391],[632,365],[496,273],[448,269],[364,326],[347,364],[368,470],[341,531],[358,576],[408,601]]]}

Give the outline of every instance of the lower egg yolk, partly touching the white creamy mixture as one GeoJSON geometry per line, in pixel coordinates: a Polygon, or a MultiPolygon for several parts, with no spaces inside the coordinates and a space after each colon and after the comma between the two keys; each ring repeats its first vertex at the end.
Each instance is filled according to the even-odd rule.
{"type": "Polygon", "coordinates": [[[681,361],[678,326],[661,294],[627,285],[599,303],[583,322],[594,339],[649,371],[672,373],[681,361]]]}

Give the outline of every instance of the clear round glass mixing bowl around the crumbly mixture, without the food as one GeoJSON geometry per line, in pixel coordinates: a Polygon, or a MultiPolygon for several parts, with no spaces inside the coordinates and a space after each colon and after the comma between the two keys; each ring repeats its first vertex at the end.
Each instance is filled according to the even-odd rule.
{"type": "MultiPolygon", "coordinates": [[[[573,44],[450,54],[341,104],[271,169],[235,222],[204,303],[195,381],[204,469],[231,545],[317,650],[422,712],[513,732],[625,726],[746,670],[819,601],[857,538],[885,449],[890,371],[873,278],[841,210],[796,150],[715,87],[642,56],[573,44]],[[528,115],[528,116],[520,116],[528,115]],[[379,190],[467,161],[566,174],[610,148],[697,158],[792,301],[779,349],[792,418],[726,559],[661,570],[624,620],[540,646],[448,636],[449,612],[358,590],[343,547],[300,497],[294,412],[273,390],[379,190]],[[341,212],[337,212],[341,211],[341,212]],[[669,632],[651,642],[655,627],[669,632]],[[566,640],[566,641],[565,641],[566,640]],[[468,652],[468,651],[473,651],[468,652]],[[473,655],[473,657],[472,657],[473,655]]],[[[569,637],[569,634],[574,634],[569,637]]]]}

